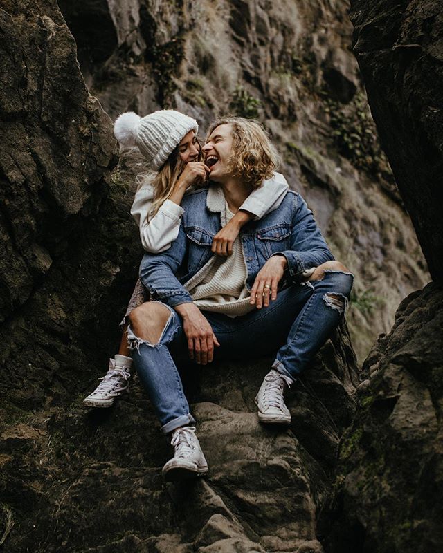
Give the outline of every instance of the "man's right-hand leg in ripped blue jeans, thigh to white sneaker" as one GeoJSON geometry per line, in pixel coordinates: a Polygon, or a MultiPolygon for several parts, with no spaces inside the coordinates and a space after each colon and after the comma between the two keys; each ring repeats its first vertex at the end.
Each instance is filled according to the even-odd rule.
{"type": "Polygon", "coordinates": [[[262,357],[278,350],[256,398],[263,422],[291,420],[283,391],[305,370],[345,311],[353,277],[341,263],[320,265],[311,279],[282,290],[269,307],[244,317],[205,313],[221,344],[217,359],[262,357]]]}

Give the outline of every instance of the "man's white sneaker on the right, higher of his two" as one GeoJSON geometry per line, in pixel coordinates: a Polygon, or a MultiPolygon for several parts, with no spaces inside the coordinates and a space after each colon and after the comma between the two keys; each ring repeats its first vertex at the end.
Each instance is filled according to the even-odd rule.
{"type": "Polygon", "coordinates": [[[258,420],[269,424],[289,424],[291,413],[284,404],[283,393],[286,386],[291,386],[292,380],[271,369],[264,377],[262,386],[255,397],[258,407],[258,420]]]}

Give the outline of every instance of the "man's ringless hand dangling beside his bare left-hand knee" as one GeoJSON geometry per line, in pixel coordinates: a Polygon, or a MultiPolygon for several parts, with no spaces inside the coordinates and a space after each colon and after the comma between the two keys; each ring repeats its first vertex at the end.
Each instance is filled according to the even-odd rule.
{"type": "Polygon", "coordinates": [[[188,338],[189,357],[206,365],[214,359],[214,345],[219,346],[212,326],[194,303],[181,303],[175,310],[183,319],[183,330],[188,338]]]}

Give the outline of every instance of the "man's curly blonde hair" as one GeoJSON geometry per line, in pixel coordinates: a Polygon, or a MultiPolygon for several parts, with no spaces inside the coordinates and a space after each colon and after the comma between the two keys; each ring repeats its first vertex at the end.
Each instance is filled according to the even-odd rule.
{"type": "Polygon", "coordinates": [[[210,126],[207,138],[217,126],[224,124],[232,127],[233,153],[228,159],[232,176],[241,178],[248,188],[257,188],[263,180],[272,178],[280,158],[262,124],[242,117],[217,119],[210,126]]]}

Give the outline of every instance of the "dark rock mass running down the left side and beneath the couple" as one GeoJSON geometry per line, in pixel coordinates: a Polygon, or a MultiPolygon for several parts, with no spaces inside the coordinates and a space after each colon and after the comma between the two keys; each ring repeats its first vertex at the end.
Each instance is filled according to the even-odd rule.
{"type": "Polygon", "coordinates": [[[128,211],[140,167],[122,158],[111,178],[111,124],[55,3],[3,3],[0,14],[3,74],[21,72],[2,102],[2,240],[21,278],[6,281],[1,328],[1,545],[320,552],[316,516],[355,410],[347,329],[289,396],[286,431],[257,422],[253,398],[269,360],[185,371],[211,476],[165,486],[170,447],[138,382],[115,409],[81,404],[114,351],[134,283],[140,250],[128,211]],[[46,260],[39,272],[28,252],[46,260]]]}

